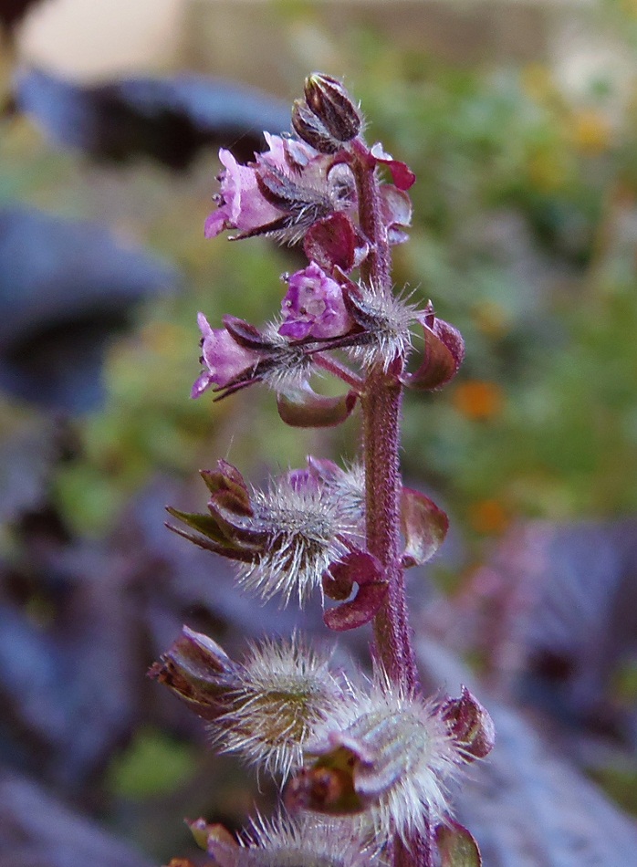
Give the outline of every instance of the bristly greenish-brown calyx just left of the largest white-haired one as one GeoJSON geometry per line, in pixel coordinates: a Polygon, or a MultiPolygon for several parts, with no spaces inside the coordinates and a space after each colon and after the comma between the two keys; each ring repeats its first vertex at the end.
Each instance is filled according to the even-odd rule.
{"type": "Polygon", "coordinates": [[[330,674],[329,656],[296,634],[251,645],[236,680],[230,709],[210,728],[214,743],[284,778],[300,766],[308,736],[350,694],[348,682],[330,674]]]}

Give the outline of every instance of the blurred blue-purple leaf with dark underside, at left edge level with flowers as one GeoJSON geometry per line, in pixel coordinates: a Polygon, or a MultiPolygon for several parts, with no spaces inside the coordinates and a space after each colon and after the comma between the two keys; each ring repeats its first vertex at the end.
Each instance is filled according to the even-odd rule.
{"type": "Polygon", "coordinates": [[[103,227],[23,207],[0,211],[0,387],[47,407],[101,399],[107,340],[177,271],[103,227]]]}

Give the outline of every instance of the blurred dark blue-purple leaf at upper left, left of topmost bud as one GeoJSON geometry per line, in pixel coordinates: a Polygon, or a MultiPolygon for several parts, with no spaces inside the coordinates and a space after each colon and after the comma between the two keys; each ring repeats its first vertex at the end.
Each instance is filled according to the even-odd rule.
{"type": "Polygon", "coordinates": [[[202,147],[237,144],[252,159],[262,131],[284,131],[285,103],[256,89],[194,74],[79,86],[39,69],[16,81],[17,107],[57,145],[100,160],[145,154],[183,169],[202,147]]]}

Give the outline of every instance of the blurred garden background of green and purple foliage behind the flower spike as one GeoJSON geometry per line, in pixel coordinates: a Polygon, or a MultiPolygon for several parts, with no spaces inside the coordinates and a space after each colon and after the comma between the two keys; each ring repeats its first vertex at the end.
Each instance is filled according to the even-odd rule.
{"type": "Polygon", "coordinates": [[[144,673],[183,622],[229,653],[266,621],[326,641],[163,528],[219,457],[258,483],[357,454],[356,416],[299,434],[266,390],[188,396],[197,310],[258,324],[299,261],[204,241],[216,151],[288,129],[314,69],[416,172],[395,282],[467,347],[403,424],[452,522],[410,576],[423,676],[475,684],[500,738],[460,816],[486,865],[632,863],[637,4],[0,0],[0,23],[0,867],[196,861],[183,816],[271,807],[144,673]]]}

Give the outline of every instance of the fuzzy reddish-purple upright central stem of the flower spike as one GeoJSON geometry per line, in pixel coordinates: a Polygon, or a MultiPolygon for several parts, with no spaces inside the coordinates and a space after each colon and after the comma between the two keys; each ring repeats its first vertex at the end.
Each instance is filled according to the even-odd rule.
{"type": "MultiPolygon", "coordinates": [[[[392,259],[381,220],[381,195],[375,163],[365,144],[352,142],[352,171],[359,198],[360,229],[371,243],[360,277],[384,293],[392,292],[392,259]]],[[[402,360],[397,367],[402,368],[402,360]]],[[[401,564],[400,423],[402,383],[382,364],[370,372],[361,394],[362,447],[365,462],[367,548],[385,567],[389,590],[374,618],[375,652],[392,683],[408,695],[421,691],[409,627],[401,564]]],[[[429,833],[413,833],[405,842],[396,838],[393,867],[433,867],[429,833]]]]}

